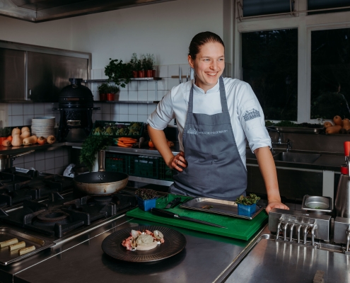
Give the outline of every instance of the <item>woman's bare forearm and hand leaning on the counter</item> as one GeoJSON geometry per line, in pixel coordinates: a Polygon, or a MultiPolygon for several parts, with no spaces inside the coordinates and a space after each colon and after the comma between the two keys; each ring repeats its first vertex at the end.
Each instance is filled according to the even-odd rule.
{"type": "Polygon", "coordinates": [[[257,163],[259,164],[267,191],[267,200],[269,204],[267,205],[266,212],[268,213],[274,207],[289,209],[286,205],[281,203],[276,166],[274,165],[274,158],[269,150],[269,146],[255,149],[254,153],[257,156],[257,163]]]}

